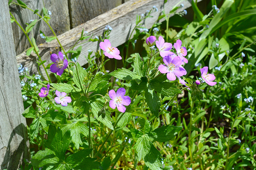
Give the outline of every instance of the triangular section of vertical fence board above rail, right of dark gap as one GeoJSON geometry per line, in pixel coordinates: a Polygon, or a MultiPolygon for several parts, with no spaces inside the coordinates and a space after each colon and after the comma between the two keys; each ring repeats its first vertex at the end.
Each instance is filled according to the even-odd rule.
{"type": "Polygon", "coordinates": [[[118,5],[122,0],[75,0],[70,1],[71,27],[76,27],[86,21],[107,12],[118,5]]]}

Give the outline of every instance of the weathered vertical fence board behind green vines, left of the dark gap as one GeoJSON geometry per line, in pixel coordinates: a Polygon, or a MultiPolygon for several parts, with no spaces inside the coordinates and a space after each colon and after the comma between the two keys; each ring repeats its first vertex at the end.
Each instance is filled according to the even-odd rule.
{"type": "MultiPolygon", "coordinates": [[[[42,0],[23,0],[24,3],[32,10],[39,10],[39,14],[42,16],[42,8],[44,7],[42,0]]],[[[68,13],[68,0],[44,0],[45,8],[52,12],[52,19],[49,23],[57,35],[60,35],[68,30],[70,30],[70,21],[68,13]]],[[[12,4],[9,7],[10,11],[14,15],[14,18],[20,23],[20,25],[25,29],[27,27],[26,23],[30,23],[32,19],[40,19],[36,14],[28,9],[23,9],[20,6],[12,4]]],[[[47,36],[53,35],[51,29],[43,21],[37,22],[33,28],[33,37],[36,39],[36,43],[44,43],[45,40],[40,37],[40,30],[47,36]]],[[[20,29],[20,27],[13,22],[12,32],[14,37],[14,44],[16,54],[22,53],[24,50],[30,47],[28,39],[20,29]]],[[[32,38],[32,31],[29,37],[32,38]]]]}

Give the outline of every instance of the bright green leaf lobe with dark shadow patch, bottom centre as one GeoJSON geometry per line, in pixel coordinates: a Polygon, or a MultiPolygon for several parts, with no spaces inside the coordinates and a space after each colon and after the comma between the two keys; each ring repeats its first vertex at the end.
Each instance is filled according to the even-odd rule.
{"type": "Polygon", "coordinates": [[[150,169],[162,170],[162,155],[155,148],[153,143],[149,141],[147,135],[141,136],[136,142],[136,144],[133,146],[133,148],[138,155],[139,161],[141,160],[141,158],[143,158],[146,166],[148,166],[150,169]]]}

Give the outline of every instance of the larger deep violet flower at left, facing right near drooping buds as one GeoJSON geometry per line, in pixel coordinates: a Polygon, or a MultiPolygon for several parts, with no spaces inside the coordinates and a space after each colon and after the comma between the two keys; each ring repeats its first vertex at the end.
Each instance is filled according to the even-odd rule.
{"type": "Polygon", "coordinates": [[[64,69],[68,66],[68,60],[64,60],[63,54],[59,51],[59,56],[57,54],[51,55],[51,60],[54,64],[50,66],[51,72],[56,73],[57,75],[61,75],[64,69]]]}

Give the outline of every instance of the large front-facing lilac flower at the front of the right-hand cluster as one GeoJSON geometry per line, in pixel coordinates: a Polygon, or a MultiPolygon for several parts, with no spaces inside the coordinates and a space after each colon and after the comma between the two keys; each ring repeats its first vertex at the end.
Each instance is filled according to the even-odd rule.
{"type": "Polygon", "coordinates": [[[182,61],[180,57],[176,56],[176,54],[173,54],[171,56],[165,56],[163,61],[165,65],[160,65],[158,67],[158,70],[161,73],[167,73],[168,80],[173,81],[176,80],[175,76],[180,77],[187,74],[185,68],[180,66],[182,61]]]}

